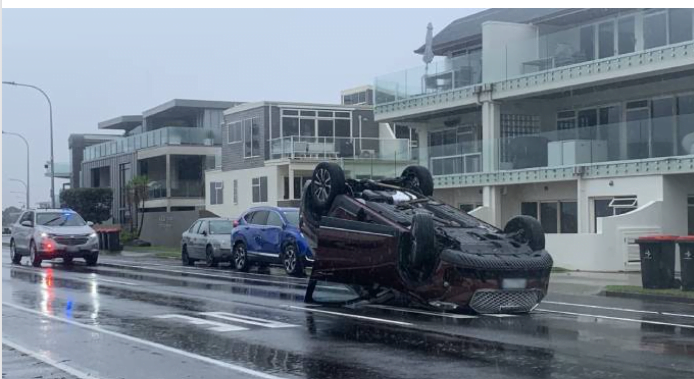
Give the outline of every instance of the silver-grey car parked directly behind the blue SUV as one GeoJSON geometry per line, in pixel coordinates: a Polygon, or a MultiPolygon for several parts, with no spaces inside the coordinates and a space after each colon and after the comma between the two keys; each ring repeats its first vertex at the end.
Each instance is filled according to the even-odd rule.
{"type": "Polygon", "coordinates": [[[209,267],[231,261],[232,220],[229,218],[201,218],[181,235],[181,262],[192,266],[205,261],[209,267]]]}

